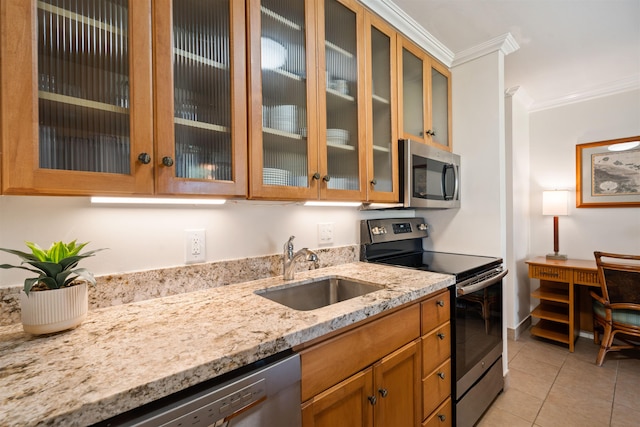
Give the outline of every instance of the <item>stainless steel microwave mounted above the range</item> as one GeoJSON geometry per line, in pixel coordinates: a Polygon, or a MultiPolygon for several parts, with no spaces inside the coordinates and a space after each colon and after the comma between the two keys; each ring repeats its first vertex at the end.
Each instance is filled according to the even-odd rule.
{"type": "Polygon", "coordinates": [[[401,139],[400,197],[405,208],[459,208],[460,156],[401,139]]]}

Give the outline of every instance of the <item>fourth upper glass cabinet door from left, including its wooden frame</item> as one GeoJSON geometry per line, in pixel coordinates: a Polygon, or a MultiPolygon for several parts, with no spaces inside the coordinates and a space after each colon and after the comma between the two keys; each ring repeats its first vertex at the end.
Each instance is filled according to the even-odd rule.
{"type": "Polygon", "coordinates": [[[319,94],[319,117],[320,143],[325,149],[320,153],[321,197],[364,200],[364,10],[354,1],[323,1],[324,50],[319,69],[325,72],[321,81],[325,90],[319,94]]]}

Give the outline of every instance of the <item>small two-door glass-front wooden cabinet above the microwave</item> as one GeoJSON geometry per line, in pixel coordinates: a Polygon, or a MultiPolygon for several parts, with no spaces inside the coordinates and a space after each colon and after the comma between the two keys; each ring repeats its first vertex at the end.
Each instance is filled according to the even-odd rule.
{"type": "Polygon", "coordinates": [[[451,73],[398,36],[400,137],[451,151],[451,73]]]}

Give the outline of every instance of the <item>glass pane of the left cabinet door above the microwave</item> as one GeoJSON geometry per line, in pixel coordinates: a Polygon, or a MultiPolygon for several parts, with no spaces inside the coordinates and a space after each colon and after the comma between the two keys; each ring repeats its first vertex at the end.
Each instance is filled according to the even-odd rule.
{"type": "Polygon", "coordinates": [[[403,129],[411,135],[424,135],[422,60],[402,49],[402,114],[403,129]]]}

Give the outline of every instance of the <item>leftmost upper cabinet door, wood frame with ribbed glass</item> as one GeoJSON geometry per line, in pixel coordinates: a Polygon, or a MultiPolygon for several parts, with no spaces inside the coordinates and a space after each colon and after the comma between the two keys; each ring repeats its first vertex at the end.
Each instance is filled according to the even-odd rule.
{"type": "Polygon", "coordinates": [[[3,193],[151,194],[151,2],[3,0],[1,19],[3,193]]]}

